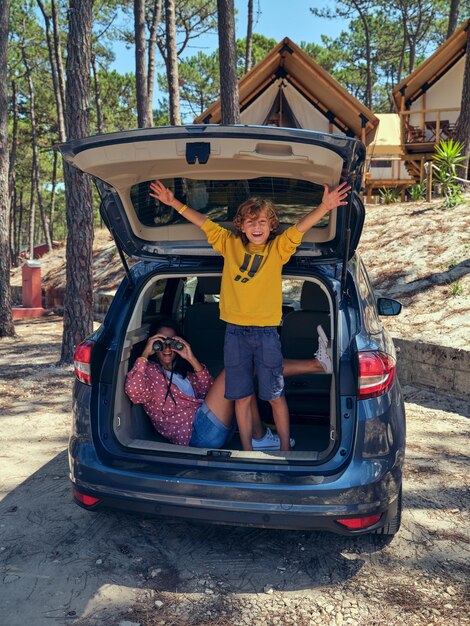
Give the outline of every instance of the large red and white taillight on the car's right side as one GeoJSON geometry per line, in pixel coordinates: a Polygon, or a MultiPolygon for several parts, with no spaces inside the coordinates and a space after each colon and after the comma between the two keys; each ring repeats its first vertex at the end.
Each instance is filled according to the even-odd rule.
{"type": "Polygon", "coordinates": [[[359,400],[376,398],[390,389],[397,362],[385,352],[358,352],[359,361],[359,400]]]}

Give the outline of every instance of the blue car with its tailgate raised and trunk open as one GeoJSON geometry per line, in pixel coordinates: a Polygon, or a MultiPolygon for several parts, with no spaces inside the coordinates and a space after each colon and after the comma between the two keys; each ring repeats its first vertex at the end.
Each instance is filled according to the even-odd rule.
{"type": "MultiPolygon", "coordinates": [[[[101,327],[76,348],[75,501],[89,510],[394,535],[405,411],[380,316],[397,315],[401,304],[376,298],[356,252],[363,144],[300,129],[189,125],[97,135],[60,151],[94,178],[125,273],[101,327]],[[222,258],[200,229],[150,197],[155,179],[227,227],[243,200],[268,197],[281,230],[321,202],[324,184],[351,185],[347,206],[306,233],[283,269],[284,357],[312,359],[322,326],[333,359],[331,374],[285,379],[291,451],[244,451],[236,432],[223,449],[176,445],[126,395],[126,375],[161,316],[179,322],[213,375],[223,367],[222,258]]],[[[260,401],[259,411],[272,425],[269,404],[260,401]]]]}

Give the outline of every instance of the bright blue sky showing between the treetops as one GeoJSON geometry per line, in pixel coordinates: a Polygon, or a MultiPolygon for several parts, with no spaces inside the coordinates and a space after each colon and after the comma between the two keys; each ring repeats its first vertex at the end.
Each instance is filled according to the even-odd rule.
{"type": "MultiPolygon", "coordinates": [[[[247,4],[247,0],[235,0],[235,9],[238,11],[235,27],[237,39],[246,37],[247,4]]],[[[253,32],[276,41],[289,37],[297,45],[301,41],[321,43],[322,34],[337,36],[346,26],[344,21],[319,19],[310,12],[310,7],[323,8],[328,5],[331,5],[329,0],[254,0],[253,32]]],[[[186,54],[192,56],[199,50],[210,54],[217,47],[217,33],[214,33],[188,46],[186,54]]],[[[116,43],[114,50],[116,61],[112,68],[120,73],[134,72],[134,49],[127,50],[123,43],[116,43]]]]}

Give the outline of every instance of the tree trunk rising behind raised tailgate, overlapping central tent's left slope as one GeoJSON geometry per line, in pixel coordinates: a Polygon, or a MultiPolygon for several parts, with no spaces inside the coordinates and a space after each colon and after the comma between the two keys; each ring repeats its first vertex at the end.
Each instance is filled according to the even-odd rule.
{"type": "Polygon", "coordinates": [[[240,123],[233,0],[217,0],[222,124],[240,123]]]}

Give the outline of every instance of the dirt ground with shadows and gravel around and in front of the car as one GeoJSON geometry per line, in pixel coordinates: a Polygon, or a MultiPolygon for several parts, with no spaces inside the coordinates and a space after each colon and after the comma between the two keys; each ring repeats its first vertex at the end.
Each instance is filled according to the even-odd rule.
{"type": "Polygon", "coordinates": [[[468,402],[405,389],[404,519],[385,546],[92,514],[67,478],[61,330],[0,340],[2,626],[470,624],[468,402]]]}

